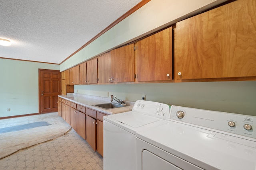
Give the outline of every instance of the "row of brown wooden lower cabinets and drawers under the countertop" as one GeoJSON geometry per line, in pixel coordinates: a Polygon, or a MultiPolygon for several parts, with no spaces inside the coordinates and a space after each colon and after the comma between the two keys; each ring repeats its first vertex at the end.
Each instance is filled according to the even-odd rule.
{"type": "Polygon", "coordinates": [[[103,156],[103,116],[106,114],[62,99],[58,101],[58,115],[103,156]]]}

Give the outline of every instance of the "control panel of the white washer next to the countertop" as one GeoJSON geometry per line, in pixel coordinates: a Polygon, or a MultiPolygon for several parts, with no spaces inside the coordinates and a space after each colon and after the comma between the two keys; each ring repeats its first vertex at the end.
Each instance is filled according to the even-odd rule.
{"type": "Polygon", "coordinates": [[[158,102],[146,100],[137,100],[132,108],[132,111],[158,117],[160,119],[168,119],[170,114],[170,106],[158,102]]]}

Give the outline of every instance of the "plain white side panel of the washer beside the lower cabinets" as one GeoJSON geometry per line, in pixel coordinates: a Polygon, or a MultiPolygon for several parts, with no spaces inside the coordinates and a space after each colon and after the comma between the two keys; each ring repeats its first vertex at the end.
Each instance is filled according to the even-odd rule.
{"type": "Polygon", "coordinates": [[[104,120],[104,170],[136,169],[136,136],[104,120]]]}

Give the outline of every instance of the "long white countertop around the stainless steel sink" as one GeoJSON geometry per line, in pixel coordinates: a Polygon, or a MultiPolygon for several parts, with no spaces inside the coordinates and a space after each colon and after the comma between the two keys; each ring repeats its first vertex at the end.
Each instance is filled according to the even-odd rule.
{"type": "MultiPolygon", "coordinates": [[[[74,102],[76,104],[79,104],[84,107],[88,107],[90,109],[94,109],[97,111],[100,111],[102,113],[106,113],[108,115],[116,114],[116,113],[122,113],[126,111],[131,111],[132,107],[135,102],[125,101],[128,106],[125,107],[118,107],[113,109],[103,109],[100,107],[92,106],[95,104],[104,104],[104,103],[110,103],[109,98],[103,98],[103,97],[97,97],[97,96],[89,96],[84,94],[76,94],[76,93],[70,93],[67,95],[58,95],[58,97],[63,98],[65,100],[69,100],[70,102],[74,102]]],[[[117,103],[117,102],[112,102],[117,103]]]]}

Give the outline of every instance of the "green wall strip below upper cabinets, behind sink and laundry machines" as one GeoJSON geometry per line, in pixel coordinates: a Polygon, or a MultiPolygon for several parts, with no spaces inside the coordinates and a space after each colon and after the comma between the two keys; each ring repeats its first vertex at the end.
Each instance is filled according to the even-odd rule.
{"type": "Polygon", "coordinates": [[[74,92],[256,116],[256,81],[75,85],[74,92]]]}

